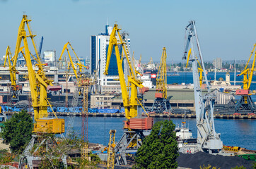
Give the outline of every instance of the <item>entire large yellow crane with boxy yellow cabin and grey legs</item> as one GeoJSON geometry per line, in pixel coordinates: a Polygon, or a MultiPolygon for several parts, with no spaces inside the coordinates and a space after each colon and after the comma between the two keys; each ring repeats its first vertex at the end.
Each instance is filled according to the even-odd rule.
{"type": "MultiPolygon", "coordinates": [[[[47,140],[41,142],[40,144],[36,144],[37,135],[41,133],[52,133],[52,134],[62,134],[64,133],[64,119],[61,118],[49,118],[47,113],[47,107],[51,106],[50,102],[47,98],[47,87],[49,85],[52,85],[52,81],[48,80],[47,77],[45,77],[45,73],[43,71],[43,65],[40,61],[40,57],[37,53],[37,49],[35,46],[34,37],[35,35],[32,34],[32,31],[30,29],[30,23],[31,20],[28,19],[27,15],[23,15],[23,18],[21,20],[21,24],[18,28],[18,36],[16,41],[16,50],[15,54],[12,58],[13,65],[11,65],[11,70],[13,70],[13,79],[16,80],[16,63],[18,59],[18,53],[21,49],[21,43],[23,42],[25,54],[23,55],[27,64],[28,68],[28,79],[30,82],[30,91],[31,91],[31,98],[33,102],[33,110],[34,110],[34,128],[33,132],[35,135],[33,135],[32,139],[30,140],[30,143],[23,151],[23,154],[20,158],[19,168],[23,168],[24,165],[28,165],[28,168],[33,168],[33,161],[40,160],[39,157],[34,156],[39,146],[42,144],[47,144],[47,140]],[[25,26],[28,29],[28,32],[25,30],[25,26]],[[35,49],[37,66],[38,70],[35,72],[33,69],[33,65],[31,62],[31,54],[30,50],[28,48],[28,37],[30,37],[33,48],[35,49]],[[37,145],[37,149],[34,149],[37,145]]],[[[54,158],[54,157],[51,157],[54,158]]],[[[62,161],[64,165],[66,165],[66,156],[62,157],[62,161]]]]}

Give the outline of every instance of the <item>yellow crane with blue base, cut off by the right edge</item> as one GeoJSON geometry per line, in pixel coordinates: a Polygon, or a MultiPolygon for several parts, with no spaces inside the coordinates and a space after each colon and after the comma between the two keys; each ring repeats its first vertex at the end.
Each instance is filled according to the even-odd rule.
{"type": "MultiPolygon", "coordinates": [[[[252,75],[255,71],[255,58],[256,58],[256,44],[254,45],[250,57],[248,59],[247,64],[245,65],[244,70],[240,73],[243,75],[243,89],[238,89],[236,91],[236,95],[241,96],[238,103],[235,105],[235,113],[240,113],[240,110],[250,110],[248,114],[254,114],[256,111],[256,105],[252,101],[250,96],[250,84],[252,83],[252,75]],[[252,68],[248,68],[249,62],[252,58],[252,54],[255,53],[253,61],[252,61],[252,68]]],[[[240,76],[238,75],[238,76],[240,76]]]]}

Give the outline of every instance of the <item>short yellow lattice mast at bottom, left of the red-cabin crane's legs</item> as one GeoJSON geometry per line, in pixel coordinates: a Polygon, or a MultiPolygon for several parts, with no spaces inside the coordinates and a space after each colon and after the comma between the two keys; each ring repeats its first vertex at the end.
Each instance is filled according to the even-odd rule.
{"type": "Polygon", "coordinates": [[[115,165],[115,132],[116,130],[110,130],[110,142],[108,142],[107,149],[107,168],[114,169],[115,165]]]}

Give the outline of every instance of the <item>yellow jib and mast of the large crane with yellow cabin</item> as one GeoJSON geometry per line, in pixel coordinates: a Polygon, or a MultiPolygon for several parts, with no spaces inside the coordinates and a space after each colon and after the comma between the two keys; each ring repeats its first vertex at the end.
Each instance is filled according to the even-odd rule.
{"type": "MultiPolygon", "coordinates": [[[[23,42],[25,54],[23,55],[26,61],[26,65],[28,68],[28,79],[30,82],[30,91],[31,91],[31,97],[33,101],[33,109],[35,113],[35,132],[39,132],[42,130],[42,132],[45,132],[49,128],[45,128],[45,125],[38,125],[37,126],[37,120],[40,118],[47,118],[47,86],[52,85],[52,81],[48,80],[47,77],[45,77],[45,73],[42,68],[42,63],[40,61],[40,57],[37,54],[37,49],[35,46],[34,37],[35,35],[32,34],[32,31],[30,29],[30,23],[31,20],[28,19],[27,15],[23,15],[23,18],[21,20],[20,27],[18,29],[18,37],[16,41],[16,50],[13,58],[11,58],[12,65],[9,62],[10,70],[11,70],[11,81],[13,82],[12,85],[16,84],[16,63],[18,59],[18,53],[22,50],[21,49],[21,42],[23,42]],[[28,28],[28,32],[25,30],[25,25],[28,28]],[[28,37],[30,37],[33,47],[35,49],[36,58],[37,61],[37,73],[35,73],[35,70],[33,70],[33,65],[31,63],[30,59],[30,50],[28,49],[28,37]]],[[[52,130],[53,132],[53,130],[52,130]]],[[[59,131],[57,133],[63,132],[61,128],[59,128],[59,131]]]]}

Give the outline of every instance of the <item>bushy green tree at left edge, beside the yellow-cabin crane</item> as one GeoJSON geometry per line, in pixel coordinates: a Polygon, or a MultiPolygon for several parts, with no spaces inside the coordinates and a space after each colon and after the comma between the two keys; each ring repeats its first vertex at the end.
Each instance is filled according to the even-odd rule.
{"type": "Polygon", "coordinates": [[[31,139],[33,120],[27,111],[14,113],[2,127],[1,137],[13,152],[21,153],[31,139]]]}

